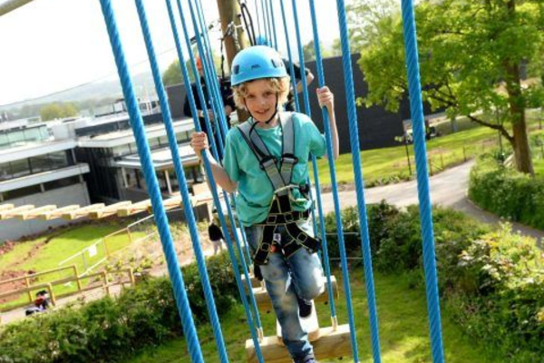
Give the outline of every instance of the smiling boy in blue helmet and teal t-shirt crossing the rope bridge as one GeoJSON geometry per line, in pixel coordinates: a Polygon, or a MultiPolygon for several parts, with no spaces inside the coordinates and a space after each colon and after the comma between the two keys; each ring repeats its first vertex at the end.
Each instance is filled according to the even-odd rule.
{"type": "MultiPolygon", "coordinates": [[[[208,152],[203,132],[191,145],[197,155],[207,152],[215,181],[237,195],[237,214],[245,228],[255,266],[282,328],[283,341],[295,363],[316,363],[301,320],[311,314],[311,300],[324,291],[323,270],[311,234],[307,198],[308,159],[325,154],[325,137],[301,113],[283,113],[290,83],[277,52],[257,45],[237,54],[231,82],[235,103],[251,115],[228,132],[223,165],[208,152]]],[[[333,159],[338,156],[334,96],[317,90],[320,106],[329,115],[333,159]]],[[[256,271],[257,275],[257,271],[256,271]]]]}

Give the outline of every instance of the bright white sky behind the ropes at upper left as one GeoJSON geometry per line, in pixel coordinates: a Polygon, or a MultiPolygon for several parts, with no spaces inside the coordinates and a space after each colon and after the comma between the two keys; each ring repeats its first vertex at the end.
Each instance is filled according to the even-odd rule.
{"type": "MultiPolygon", "coordinates": [[[[0,5],[7,1],[0,0],[0,5]]],[[[261,1],[247,0],[252,13],[256,2],[260,6],[261,1]]],[[[217,0],[201,2],[207,23],[219,19],[217,0]]],[[[182,0],[181,3],[186,4],[187,1],[182,0]]],[[[285,0],[284,3],[290,33],[295,34],[291,1],[285,0]]],[[[163,72],[177,59],[166,3],[143,0],[143,4],[163,72]]],[[[172,1],[174,9],[175,4],[172,1]]],[[[283,24],[279,1],[274,0],[274,4],[278,43],[285,44],[283,27],[279,26],[283,24]]],[[[302,42],[306,44],[312,39],[309,5],[301,0],[297,0],[296,5],[302,42]]],[[[131,74],[149,70],[134,1],[112,0],[112,6],[131,74]]],[[[316,13],[320,40],[325,47],[329,46],[339,37],[336,2],[316,0],[316,13]]],[[[189,10],[185,11],[185,15],[189,16],[189,10]]],[[[257,23],[256,15],[253,22],[257,23]]],[[[181,31],[180,24],[178,28],[181,31]]],[[[118,79],[99,0],[34,0],[0,16],[0,34],[0,106],[38,98],[83,83],[118,79]]],[[[190,25],[189,35],[193,35],[190,25]]],[[[212,47],[218,53],[219,37],[219,31],[209,33],[212,47]]],[[[294,44],[295,38],[290,39],[294,44]]],[[[283,46],[280,46],[280,52],[287,55],[283,46]]]]}

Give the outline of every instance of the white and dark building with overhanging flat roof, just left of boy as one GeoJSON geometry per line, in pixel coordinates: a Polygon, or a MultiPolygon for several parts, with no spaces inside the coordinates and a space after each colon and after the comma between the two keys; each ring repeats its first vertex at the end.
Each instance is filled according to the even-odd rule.
{"type": "MultiPolygon", "coordinates": [[[[160,191],[164,198],[169,198],[179,191],[179,186],[162,115],[145,115],[143,120],[160,191]]],[[[189,146],[190,134],[194,130],[192,119],[176,120],[172,125],[189,186],[194,182],[203,182],[199,160],[189,146]]],[[[85,180],[92,202],[149,199],[136,142],[126,114],[76,127],[75,134],[78,138],[75,151],[77,160],[88,163],[91,168],[85,180]]]]}

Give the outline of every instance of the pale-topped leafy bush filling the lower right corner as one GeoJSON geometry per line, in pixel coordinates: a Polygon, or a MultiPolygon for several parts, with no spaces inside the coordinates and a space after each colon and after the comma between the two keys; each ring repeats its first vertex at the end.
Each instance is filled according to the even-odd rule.
{"type": "Polygon", "coordinates": [[[455,290],[448,307],[463,329],[509,361],[539,361],[544,356],[543,263],[535,241],[505,225],[461,253],[458,270],[471,276],[474,290],[455,290]]]}

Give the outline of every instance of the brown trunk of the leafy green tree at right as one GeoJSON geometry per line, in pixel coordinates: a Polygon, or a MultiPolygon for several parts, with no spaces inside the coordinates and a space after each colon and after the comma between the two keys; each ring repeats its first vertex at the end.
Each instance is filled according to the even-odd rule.
{"type": "MultiPolygon", "coordinates": [[[[509,15],[516,16],[516,2],[510,0],[507,3],[509,15]]],[[[504,61],[506,70],[506,91],[510,105],[510,120],[512,123],[514,157],[518,172],[534,175],[532,160],[530,157],[529,135],[525,119],[525,103],[521,94],[520,64],[511,60],[504,61]]]]}

